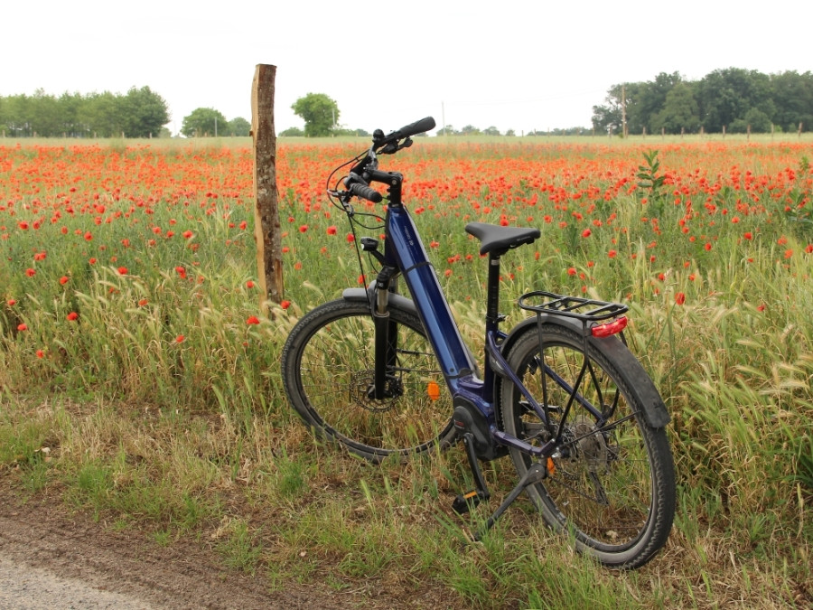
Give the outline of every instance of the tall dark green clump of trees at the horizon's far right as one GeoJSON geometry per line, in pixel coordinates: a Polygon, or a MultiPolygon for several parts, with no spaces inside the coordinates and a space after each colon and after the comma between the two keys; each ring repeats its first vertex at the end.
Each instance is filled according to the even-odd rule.
{"type": "Polygon", "coordinates": [[[593,129],[615,134],[773,133],[813,126],[813,73],[715,70],[701,80],[661,72],[613,85],[593,129]]]}

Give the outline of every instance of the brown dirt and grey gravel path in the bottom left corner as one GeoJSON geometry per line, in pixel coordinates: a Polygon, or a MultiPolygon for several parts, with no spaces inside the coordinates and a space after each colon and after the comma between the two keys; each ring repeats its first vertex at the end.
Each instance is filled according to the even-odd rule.
{"type": "MultiPolygon", "coordinates": [[[[0,474],[0,609],[5,608],[349,608],[400,605],[327,587],[269,591],[262,577],[224,568],[202,545],[164,548],[137,532],[115,531],[59,501],[20,502],[0,474]],[[20,568],[29,567],[20,577],[20,568]],[[3,585],[3,577],[12,584],[3,585]],[[16,587],[16,588],[10,588],[16,587]],[[29,596],[45,596],[37,601],[29,596]],[[98,596],[90,599],[89,595],[98,596]],[[70,596],[76,596],[71,599],[70,596]]],[[[395,602],[395,603],[393,603],[395,602]]]]}

